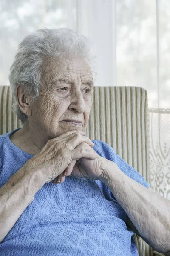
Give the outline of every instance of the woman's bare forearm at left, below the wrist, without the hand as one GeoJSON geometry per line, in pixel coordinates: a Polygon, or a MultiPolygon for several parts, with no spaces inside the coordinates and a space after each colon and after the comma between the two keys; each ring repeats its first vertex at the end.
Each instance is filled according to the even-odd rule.
{"type": "Polygon", "coordinates": [[[0,188],[0,242],[44,185],[27,163],[0,188]]]}

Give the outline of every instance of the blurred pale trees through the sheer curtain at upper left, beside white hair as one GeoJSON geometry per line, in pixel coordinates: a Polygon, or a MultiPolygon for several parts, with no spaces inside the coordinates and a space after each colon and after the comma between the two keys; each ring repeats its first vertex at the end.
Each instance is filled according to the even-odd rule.
{"type": "Polygon", "coordinates": [[[18,44],[37,29],[76,29],[76,0],[0,0],[0,85],[8,85],[18,44]],[[68,18],[71,15],[71,19],[68,18]],[[70,13],[72,12],[72,13],[70,13]]]}

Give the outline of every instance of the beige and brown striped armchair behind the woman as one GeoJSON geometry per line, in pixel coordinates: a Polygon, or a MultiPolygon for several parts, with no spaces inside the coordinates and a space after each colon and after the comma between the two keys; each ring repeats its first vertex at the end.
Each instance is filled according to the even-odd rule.
{"type": "MultiPolygon", "coordinates": [[[[0,134],[21,127],[11,107],[9,86],[0,86],[0,134]]],[[[87,136],[111,145],[150,182],[147,109],[147,91],[142,88],[94,87],[87,136]]],[[[139,256],[164,256],[153,251],[139,236],[134,235],[133,238],[139,256]]]]}

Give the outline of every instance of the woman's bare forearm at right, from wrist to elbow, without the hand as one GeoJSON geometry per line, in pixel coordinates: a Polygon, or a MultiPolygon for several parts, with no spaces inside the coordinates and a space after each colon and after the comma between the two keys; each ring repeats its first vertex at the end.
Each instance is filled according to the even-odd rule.
{"type": "Polygon", "coordinates": [[[164,254],[169,252],[170,201],[137,183],[106,159],[100,180],[111,189],[140,236],[154,250],[164,254]]]}

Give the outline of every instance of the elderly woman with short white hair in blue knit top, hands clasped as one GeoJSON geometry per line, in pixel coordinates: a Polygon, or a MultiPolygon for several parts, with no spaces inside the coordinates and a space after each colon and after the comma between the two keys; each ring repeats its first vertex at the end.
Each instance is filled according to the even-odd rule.
{"type": "Polygon", "coordinates": [[[23,128],[0,136],[2,256],[137,256],[134,232],[170,251],[170,201],[85,137],[93,58],[71,29],[39,30],[19,46],[9,79],[23,128]]]}

